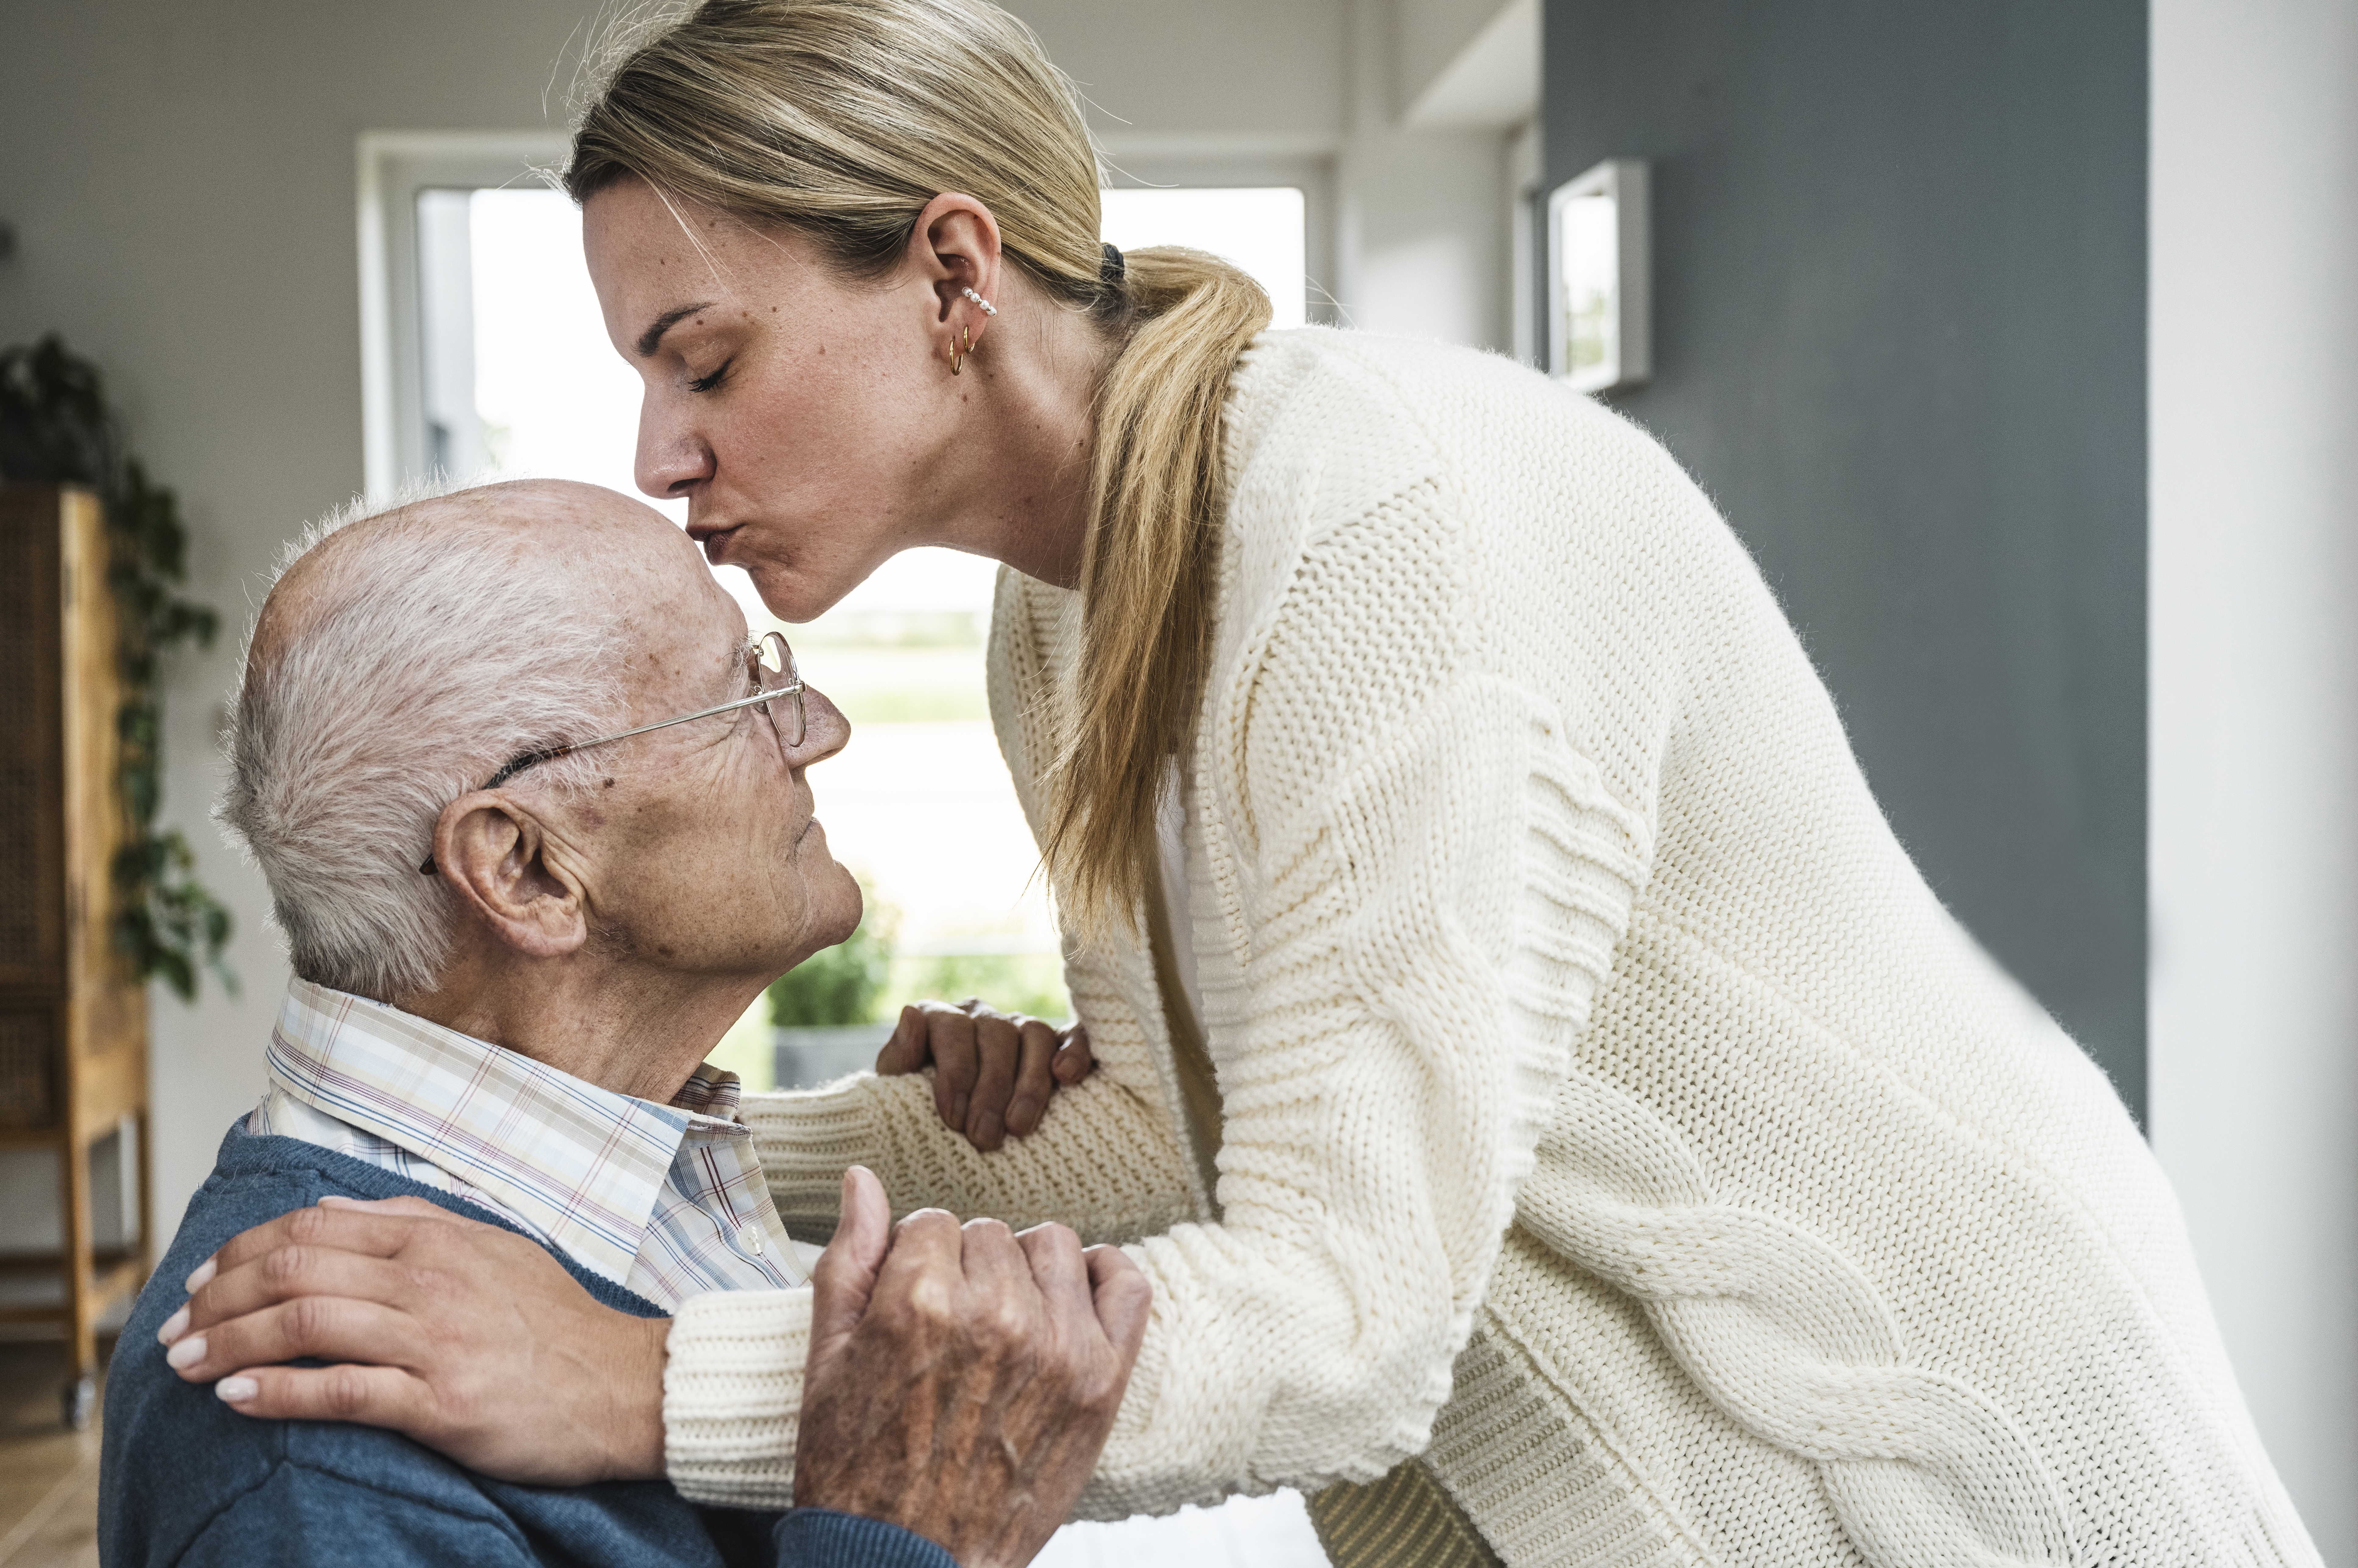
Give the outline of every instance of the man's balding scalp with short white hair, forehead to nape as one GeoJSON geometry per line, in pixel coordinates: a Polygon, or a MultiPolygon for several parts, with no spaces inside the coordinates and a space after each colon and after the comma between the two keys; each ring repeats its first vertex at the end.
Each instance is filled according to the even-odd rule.
{"type": "MultiPolygon", "coordinates": [[[[309,528],[255,618],[215,811],[269,879],[295,971],[380,1000],[429,988],[450,908],[417,865],[443,804],[710,684],[724,653],[677,630],[714,615],[736,608],[686,535],[597,486],[483,486],[309,528]]],[[[552,762],[545,783],[575,773],[552,762]]]]}

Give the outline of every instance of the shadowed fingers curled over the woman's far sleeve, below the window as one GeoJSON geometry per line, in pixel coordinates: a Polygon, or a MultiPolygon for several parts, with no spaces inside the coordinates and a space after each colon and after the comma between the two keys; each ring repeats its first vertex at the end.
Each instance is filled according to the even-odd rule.
{"type": "Polygon", "coordinates": [[[934,1108],[950,1132],[990,1153],[1014,1137],[1030,1137],[1056,1089],[1071,1089],[1096,1068],[1089,1030],[1000,1012],[981,997],[913,1002],[877,1054],[877,1073],[934,1068],[934,1108]]]}

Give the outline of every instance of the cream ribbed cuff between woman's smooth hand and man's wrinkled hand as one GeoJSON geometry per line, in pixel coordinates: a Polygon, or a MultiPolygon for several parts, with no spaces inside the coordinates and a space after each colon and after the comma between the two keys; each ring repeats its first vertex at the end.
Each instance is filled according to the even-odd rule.
{"type": "Polygon", "coordinates": [[[731,1509],[795,1504],[809,1290],[717,1290],[672,1318],[663,1448],[672,1485],[731,1509]]]}

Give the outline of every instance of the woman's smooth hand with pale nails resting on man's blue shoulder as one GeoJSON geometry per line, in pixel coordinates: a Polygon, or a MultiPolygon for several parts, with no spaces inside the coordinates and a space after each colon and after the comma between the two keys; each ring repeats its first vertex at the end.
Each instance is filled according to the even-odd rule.
{"type": "Polygon", "coordinates": [[[663,1476],[667,1318],[422,1198],[281,1214],[189,1276],[158,1337],[255,1417],[363,1422],[533,1485],[663,1476]],[[325,1368],[276,1365],[328,1361],[325,1368]]]}

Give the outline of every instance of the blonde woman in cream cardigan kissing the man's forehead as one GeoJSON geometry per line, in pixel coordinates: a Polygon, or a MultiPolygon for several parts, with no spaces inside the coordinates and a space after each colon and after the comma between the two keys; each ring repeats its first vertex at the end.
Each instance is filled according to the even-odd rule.
{"type": "MultiPolygon", "coordinates": [[[[1346,1563],[2316,1561],[2110,1085],[1641,431],[1104,248],[1078,99],[986,0],[712,0],[568,186],[639,481],[712,561],[785,620],[915,545],[1007,564],[990,710],[1099,1073],[976,1153],[936,1014],[896,1042],[934,1082],[745,1115],[790,1219],[863,1162],[1129,1243],[1153,1327],[1085,1514],[1292,1483],[1346,1563]]],[[[408,1365],[507,1379],[469,1419],[528,1443],[514,1368],[556,1363],[439,1335],[467,1299],[401,1309],[408,1365]]],[[[806,1323],[691,1299],[667,1391],[615,1394],[684,1493],[788,1500],[806,1323]]],[[[189,1375],[368,1358],[299,1335],[189,1375]]]]}

